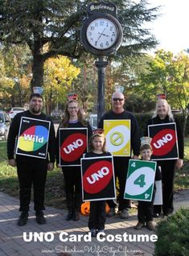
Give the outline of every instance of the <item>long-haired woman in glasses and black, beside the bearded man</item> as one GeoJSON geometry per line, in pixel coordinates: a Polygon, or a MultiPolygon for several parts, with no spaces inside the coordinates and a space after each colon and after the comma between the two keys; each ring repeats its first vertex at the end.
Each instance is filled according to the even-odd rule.
{"type": "MultiPolygon", "coordinates": [[[[88,138],[92,135],[92,128],[80,111],[79,103],[76,100],[68,101],[60,128],[88,128],[88,138]]],[[[59,163],[59,129],[56,136],[56,163],[59,163]]],[[[81,176],[80,166],[62,167],[65,180],[65,192],[68,206],[66,221],[78,221],[81,204],[81,176]]]]}

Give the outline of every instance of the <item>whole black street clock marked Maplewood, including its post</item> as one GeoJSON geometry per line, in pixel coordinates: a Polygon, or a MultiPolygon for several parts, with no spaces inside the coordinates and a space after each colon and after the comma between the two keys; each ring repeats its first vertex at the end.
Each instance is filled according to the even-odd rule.
{"type": "Polygon", "coordinates": [[[105,114],[105,68],[107,57],[117,52],[123,39],[121,24],[117,19],[117,6],[112,2],[88,4],[88,17],[80,31],[81,43],[93,55],[98,56],[95,65],[98,70],[97,122],[105,114]]]}

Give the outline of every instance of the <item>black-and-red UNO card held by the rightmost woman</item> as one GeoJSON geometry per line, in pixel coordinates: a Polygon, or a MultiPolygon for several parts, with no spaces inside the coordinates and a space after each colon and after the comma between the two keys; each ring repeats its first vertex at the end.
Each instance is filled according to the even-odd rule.
{"type": "Polygon", "coordinates": [[[148,126],[152,138],[153,160],[178,159],[178,141],[175,122],[148,126]]]}

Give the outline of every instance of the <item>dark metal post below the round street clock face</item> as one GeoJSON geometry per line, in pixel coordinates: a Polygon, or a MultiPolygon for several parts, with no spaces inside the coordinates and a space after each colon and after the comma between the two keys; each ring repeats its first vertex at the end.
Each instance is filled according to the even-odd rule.
{"type": "Polygon", "coordinates": [[[97,123],[100,122],[103,114],[105,114],[105,67],[108,61],[104,56],[100,56],[95,65],[98,69],[98,95],[97,95],[97,123]]]}

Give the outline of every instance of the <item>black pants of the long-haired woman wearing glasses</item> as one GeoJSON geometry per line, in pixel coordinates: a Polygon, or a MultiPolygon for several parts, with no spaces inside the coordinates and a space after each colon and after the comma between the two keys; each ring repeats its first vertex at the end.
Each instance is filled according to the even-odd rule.
{"type": "Polygon", "coordinates": [[[65,192],[68,209],[80,211],[81,204],[81,175],[80,167],[63,167],[65,192]]]}

